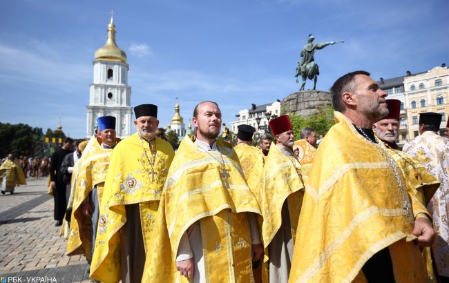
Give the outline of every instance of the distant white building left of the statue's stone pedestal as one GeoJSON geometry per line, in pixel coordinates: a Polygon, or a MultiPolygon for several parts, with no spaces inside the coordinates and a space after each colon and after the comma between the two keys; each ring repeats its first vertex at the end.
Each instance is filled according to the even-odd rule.
{"type": "Polygon", "coordinates": [[[251,104],[251,109],[243,109],[238,112],[237,121],[231,121],[232,133],[238,133],[238,126],[247,124],[256,128],[256,133],[262,135],[265,130],[268,131],[268,121],[274,117],[280,116],[280,101],[274,101],[271,104],[256,105],[251,104]]]}

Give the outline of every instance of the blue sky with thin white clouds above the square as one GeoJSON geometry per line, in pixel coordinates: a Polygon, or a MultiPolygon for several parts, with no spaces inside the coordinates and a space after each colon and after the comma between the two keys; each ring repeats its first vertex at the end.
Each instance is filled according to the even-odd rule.
{"type": "Polygon", "coordinates": [[[316,43],[345,41],[316,51],[318,90],[353,70],[378,80],[449,64],[446,0],[2,0],[0,122],[45,132],[60,119],[66,135],[86,137],[92,62],[111,10],[131,106],[156,104],[160,126],[176,97],[186,126],[203,100],[216,101],[229,124],[251,104],[298,91],[309,33],[316,43]]]}

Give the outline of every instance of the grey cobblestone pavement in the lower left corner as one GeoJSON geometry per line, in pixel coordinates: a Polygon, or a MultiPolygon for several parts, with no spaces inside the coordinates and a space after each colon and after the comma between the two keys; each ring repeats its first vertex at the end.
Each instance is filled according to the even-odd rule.
{"type": "Polygon", "coordinates": [[[65,255],[47,181],[28,177],[13,195],[0,195],[0,282],[90,282],[85,257],[65,255]]]}

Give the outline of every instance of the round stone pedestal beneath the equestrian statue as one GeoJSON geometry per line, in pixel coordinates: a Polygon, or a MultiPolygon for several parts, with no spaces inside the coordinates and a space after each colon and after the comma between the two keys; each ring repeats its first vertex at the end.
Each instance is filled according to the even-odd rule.
{"type": "Polygon", "coordinates": [[[286,113],[307,117],[318,112],[321,106],[332,105],[331,95],[322,90],[300,90],[285,97],[280,105],[286,113]]]}

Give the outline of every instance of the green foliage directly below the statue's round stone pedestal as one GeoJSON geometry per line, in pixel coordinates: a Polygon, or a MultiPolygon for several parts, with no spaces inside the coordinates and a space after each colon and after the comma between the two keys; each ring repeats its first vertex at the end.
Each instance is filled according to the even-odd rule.
{"type": "Polygon", "coordinates": [[[290,114],[292,121],[295,140],[300,139],[299,133],[305,127],[311,127],[316,130],[316,135],[325,135],[329,128],[334,126],[334,110],[332,106],[323,106],[318,109],[318,113],[301,117],[299,115],[290,114]]]}

